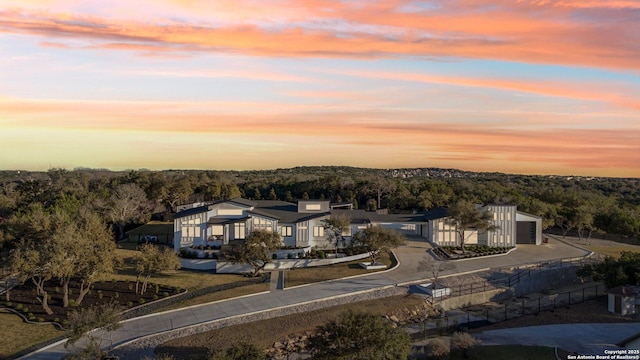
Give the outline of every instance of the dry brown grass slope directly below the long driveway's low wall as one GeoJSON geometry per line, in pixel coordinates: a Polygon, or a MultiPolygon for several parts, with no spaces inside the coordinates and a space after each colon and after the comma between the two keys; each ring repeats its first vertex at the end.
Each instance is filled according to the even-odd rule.
{"type": "Polygon", "coordinates": [[[178,359],[204,359],[211,349],[226,349],[239,342],[267,348],[290,335],[314,330],[316,326],[337,319],[338,315],[348,310],[382,315],[422,302],[422,298],[415,296],[394,296],[229,326],[168,341],[156,348],[156,353],[169,353],[178,359]]]}

